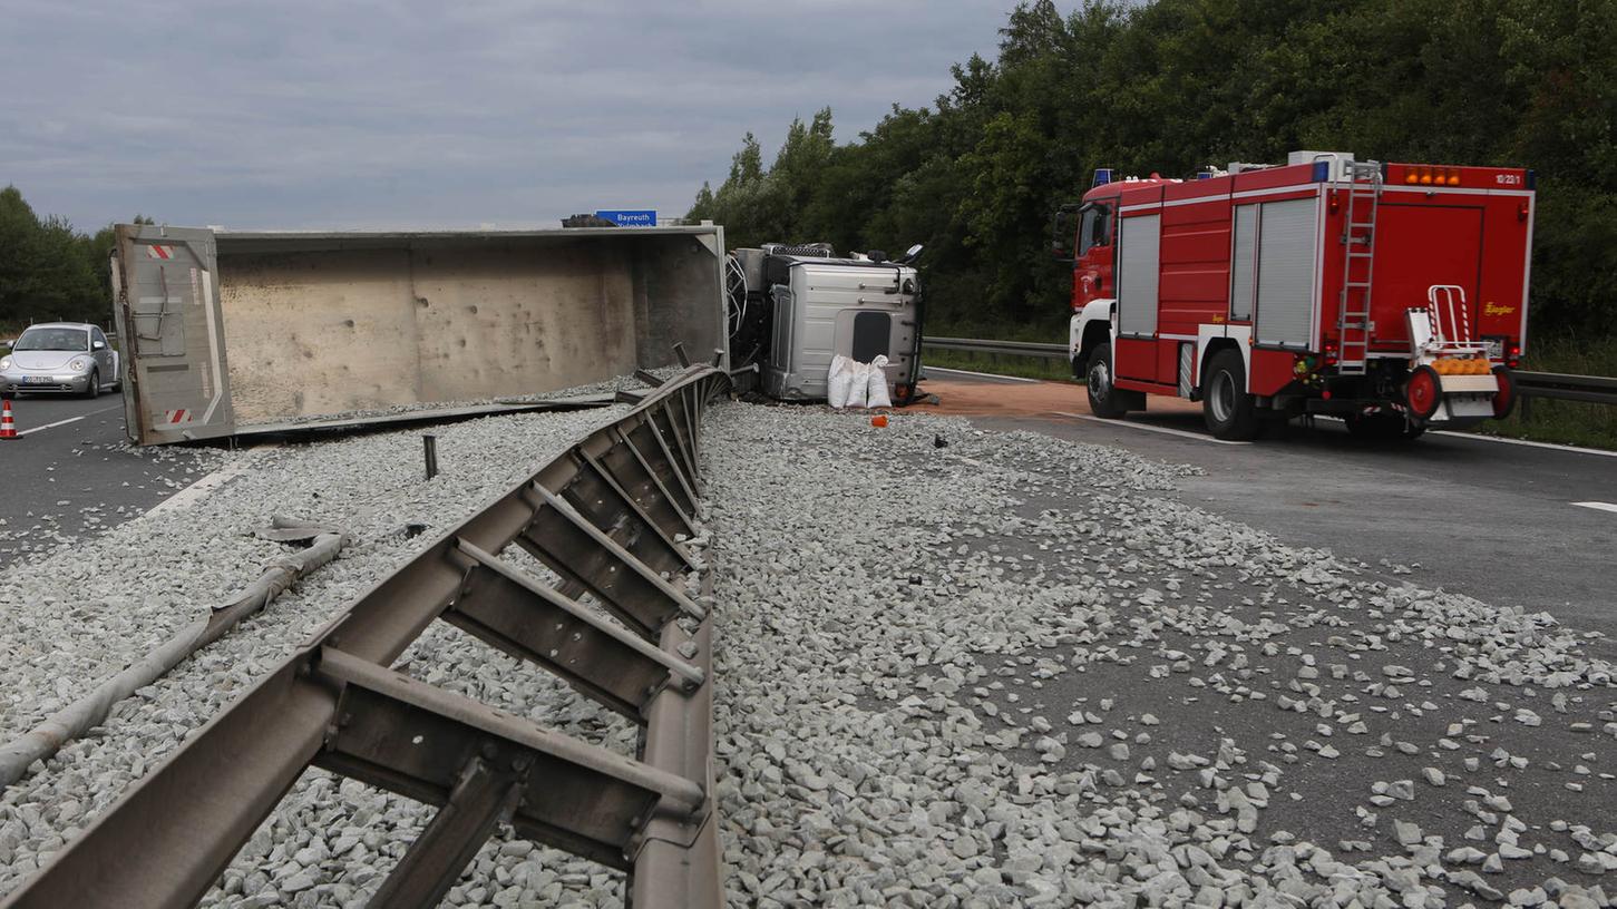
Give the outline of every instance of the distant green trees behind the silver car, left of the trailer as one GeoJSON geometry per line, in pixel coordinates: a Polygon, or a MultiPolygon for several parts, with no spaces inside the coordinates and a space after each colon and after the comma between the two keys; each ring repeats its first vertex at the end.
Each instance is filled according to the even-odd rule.
{"type": "Polygon", "coordinates": [[[112,226],[82,235],[66,218],[34,214],[18,188],[0,189],[0,328],[49,320],[107,325],[112,246],[112,226]]]}

